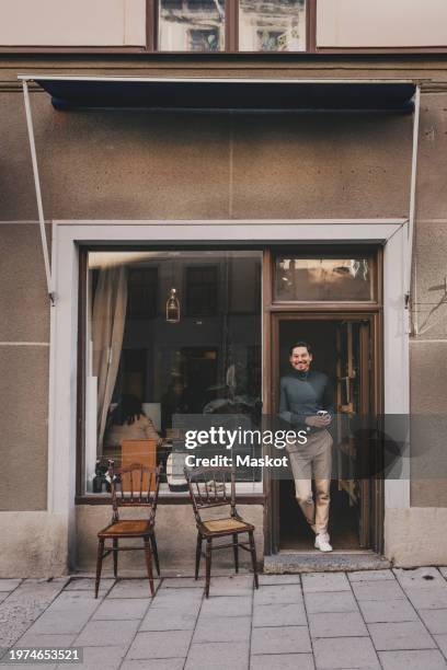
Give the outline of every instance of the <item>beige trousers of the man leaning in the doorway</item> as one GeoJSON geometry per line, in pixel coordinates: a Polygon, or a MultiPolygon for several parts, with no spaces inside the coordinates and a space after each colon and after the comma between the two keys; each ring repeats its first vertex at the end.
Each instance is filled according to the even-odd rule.
{"type": "Polygon", "coordinates": [[[287,449],[295,480],[295,495],[316,534],[328,532],[332,470],[332,437],[328,430],[312,432],[307,444],[287,449]],[[316,482],[316,501],[312,495],[316,482]]]}

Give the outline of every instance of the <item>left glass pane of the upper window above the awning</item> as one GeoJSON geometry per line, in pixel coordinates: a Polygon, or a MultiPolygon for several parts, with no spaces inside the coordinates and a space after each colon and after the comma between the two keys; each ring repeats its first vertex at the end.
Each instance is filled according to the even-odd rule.
{"type": "Polygon", "coordinates": [[[225,49],[225,0],[159,0],[161,51],[225,49]]]}

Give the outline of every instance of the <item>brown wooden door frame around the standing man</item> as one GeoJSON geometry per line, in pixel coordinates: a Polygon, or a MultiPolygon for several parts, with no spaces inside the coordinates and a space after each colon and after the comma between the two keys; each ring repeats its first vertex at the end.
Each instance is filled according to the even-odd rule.
{"type": "MultiPolygon", "coordinates": [[[[343,252],[346,250],[344,247],[343,252]]],[[[321,245],[319,246],[321,250],[321,245]]],[[[370,338],[373,348],[371,358],[371,407],[376,414],[383,412],[383,313],[382,313],[382,250],[377,250],[375,264],[376,299],[365,303],[332,302],[324,303],[295,303],[291,305],[274,303],[273,279],[274,253],[264,252],[263,258],[263,412],[273,415],[278,407],[279,390],[279,322],[306,321],[359,321],[370,322],[370,338]]],[[[383,552],[383,522],[385,522],[385,482],[382,478],[374,480],[373,507],[370,511],[370,548],[377,553],[383,552]]],[[[264,553],[275,554],[279,551],[279,495],[278,481],[270,476],[268,469],[264,471],[264,553]]]]}

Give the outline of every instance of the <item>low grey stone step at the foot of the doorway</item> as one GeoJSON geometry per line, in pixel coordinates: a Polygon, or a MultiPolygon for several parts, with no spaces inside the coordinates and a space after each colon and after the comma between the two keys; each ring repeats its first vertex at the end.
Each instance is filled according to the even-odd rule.
{"type": "Polygon", "coordinates": [[[296,573],[337,573],[353,570],[382,570],[391,562],[374,552],[294,552],[282,551],[264,556],[264,574],[293,575],[296,573]]]}

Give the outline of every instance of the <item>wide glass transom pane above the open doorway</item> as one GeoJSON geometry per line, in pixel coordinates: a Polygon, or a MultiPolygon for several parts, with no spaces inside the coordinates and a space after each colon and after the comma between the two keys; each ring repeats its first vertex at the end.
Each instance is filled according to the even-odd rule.
{"type": "Polygon", "coordinates": [[[275,300],[371,300],[368,258],[290,258],[275,267],[275,300]]]}

